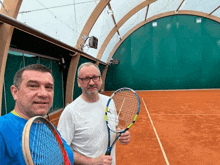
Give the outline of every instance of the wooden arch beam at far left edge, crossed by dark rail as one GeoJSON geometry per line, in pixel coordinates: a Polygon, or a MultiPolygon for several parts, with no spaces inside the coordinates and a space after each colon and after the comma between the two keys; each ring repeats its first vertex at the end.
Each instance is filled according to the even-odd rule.
{"type": "MultiPolygon", "coordinates": [[[[22,0],[4,0],[0,13],[12,18],[17,18],[22,0]]],[[[5,76],[5,67],[8,57],[8,50],[11,43],[14,27],[0,23],[0,116],[2,109],[2,91],[5,76]]]]}

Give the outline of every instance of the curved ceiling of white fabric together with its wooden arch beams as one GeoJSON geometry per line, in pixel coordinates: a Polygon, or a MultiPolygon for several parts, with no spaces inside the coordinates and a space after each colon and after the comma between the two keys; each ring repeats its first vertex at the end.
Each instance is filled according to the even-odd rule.
{"type": "Polygon", "coordinates": [[[188,10],[219,18],[219,8],[219,0],[23,0],[17,20],[108,62],[131,29],[159,14],[188,10]],[[88,46],[91,36],[97,49],[88,46]]]}

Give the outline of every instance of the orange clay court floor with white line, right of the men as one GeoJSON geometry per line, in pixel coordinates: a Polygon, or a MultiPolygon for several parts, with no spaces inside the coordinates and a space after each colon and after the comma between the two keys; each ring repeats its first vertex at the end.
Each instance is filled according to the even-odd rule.
{"type": "Polygon", "coordinates": [[[220,90],[137,91],[141,110],[118,165],[220,164],[220,90]]]}

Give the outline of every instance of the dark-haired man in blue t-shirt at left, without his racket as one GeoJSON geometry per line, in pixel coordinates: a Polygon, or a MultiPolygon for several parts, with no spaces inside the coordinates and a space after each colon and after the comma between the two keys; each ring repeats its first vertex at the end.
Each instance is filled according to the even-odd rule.
{"type": "MultiPolygon", "coordinates": [[[[14,84],[10,89],[15,107],[11,113],[0,117],[0,164],[24,165],[24,126],[31,117],[48,113],[53,104],[54,79],[49,68],[41,64],[32,64],[15,74],[14,84]]],[[[73,164],[73,152],[64,140],[63,142],[73,164]]]]}

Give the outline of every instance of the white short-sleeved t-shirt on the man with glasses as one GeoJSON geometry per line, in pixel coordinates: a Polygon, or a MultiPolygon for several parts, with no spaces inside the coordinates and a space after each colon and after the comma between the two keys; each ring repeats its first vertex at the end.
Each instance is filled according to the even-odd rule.
{"type": "MultiPolygon", "coordinates": [[[[109,97],[99,94],[94,103],[84,101],[81,96],[66,106],[62,112],[58,130],[68,145],[87,157],[96,158],[105,154],[108,145],[108,130],[105,122],[105,108],[109,97]]],[[[111,132],[111,143],[116,134],[111,132]]],[[[112,165],[115,165],[115,146],[111,151],[112,165]]]]}

